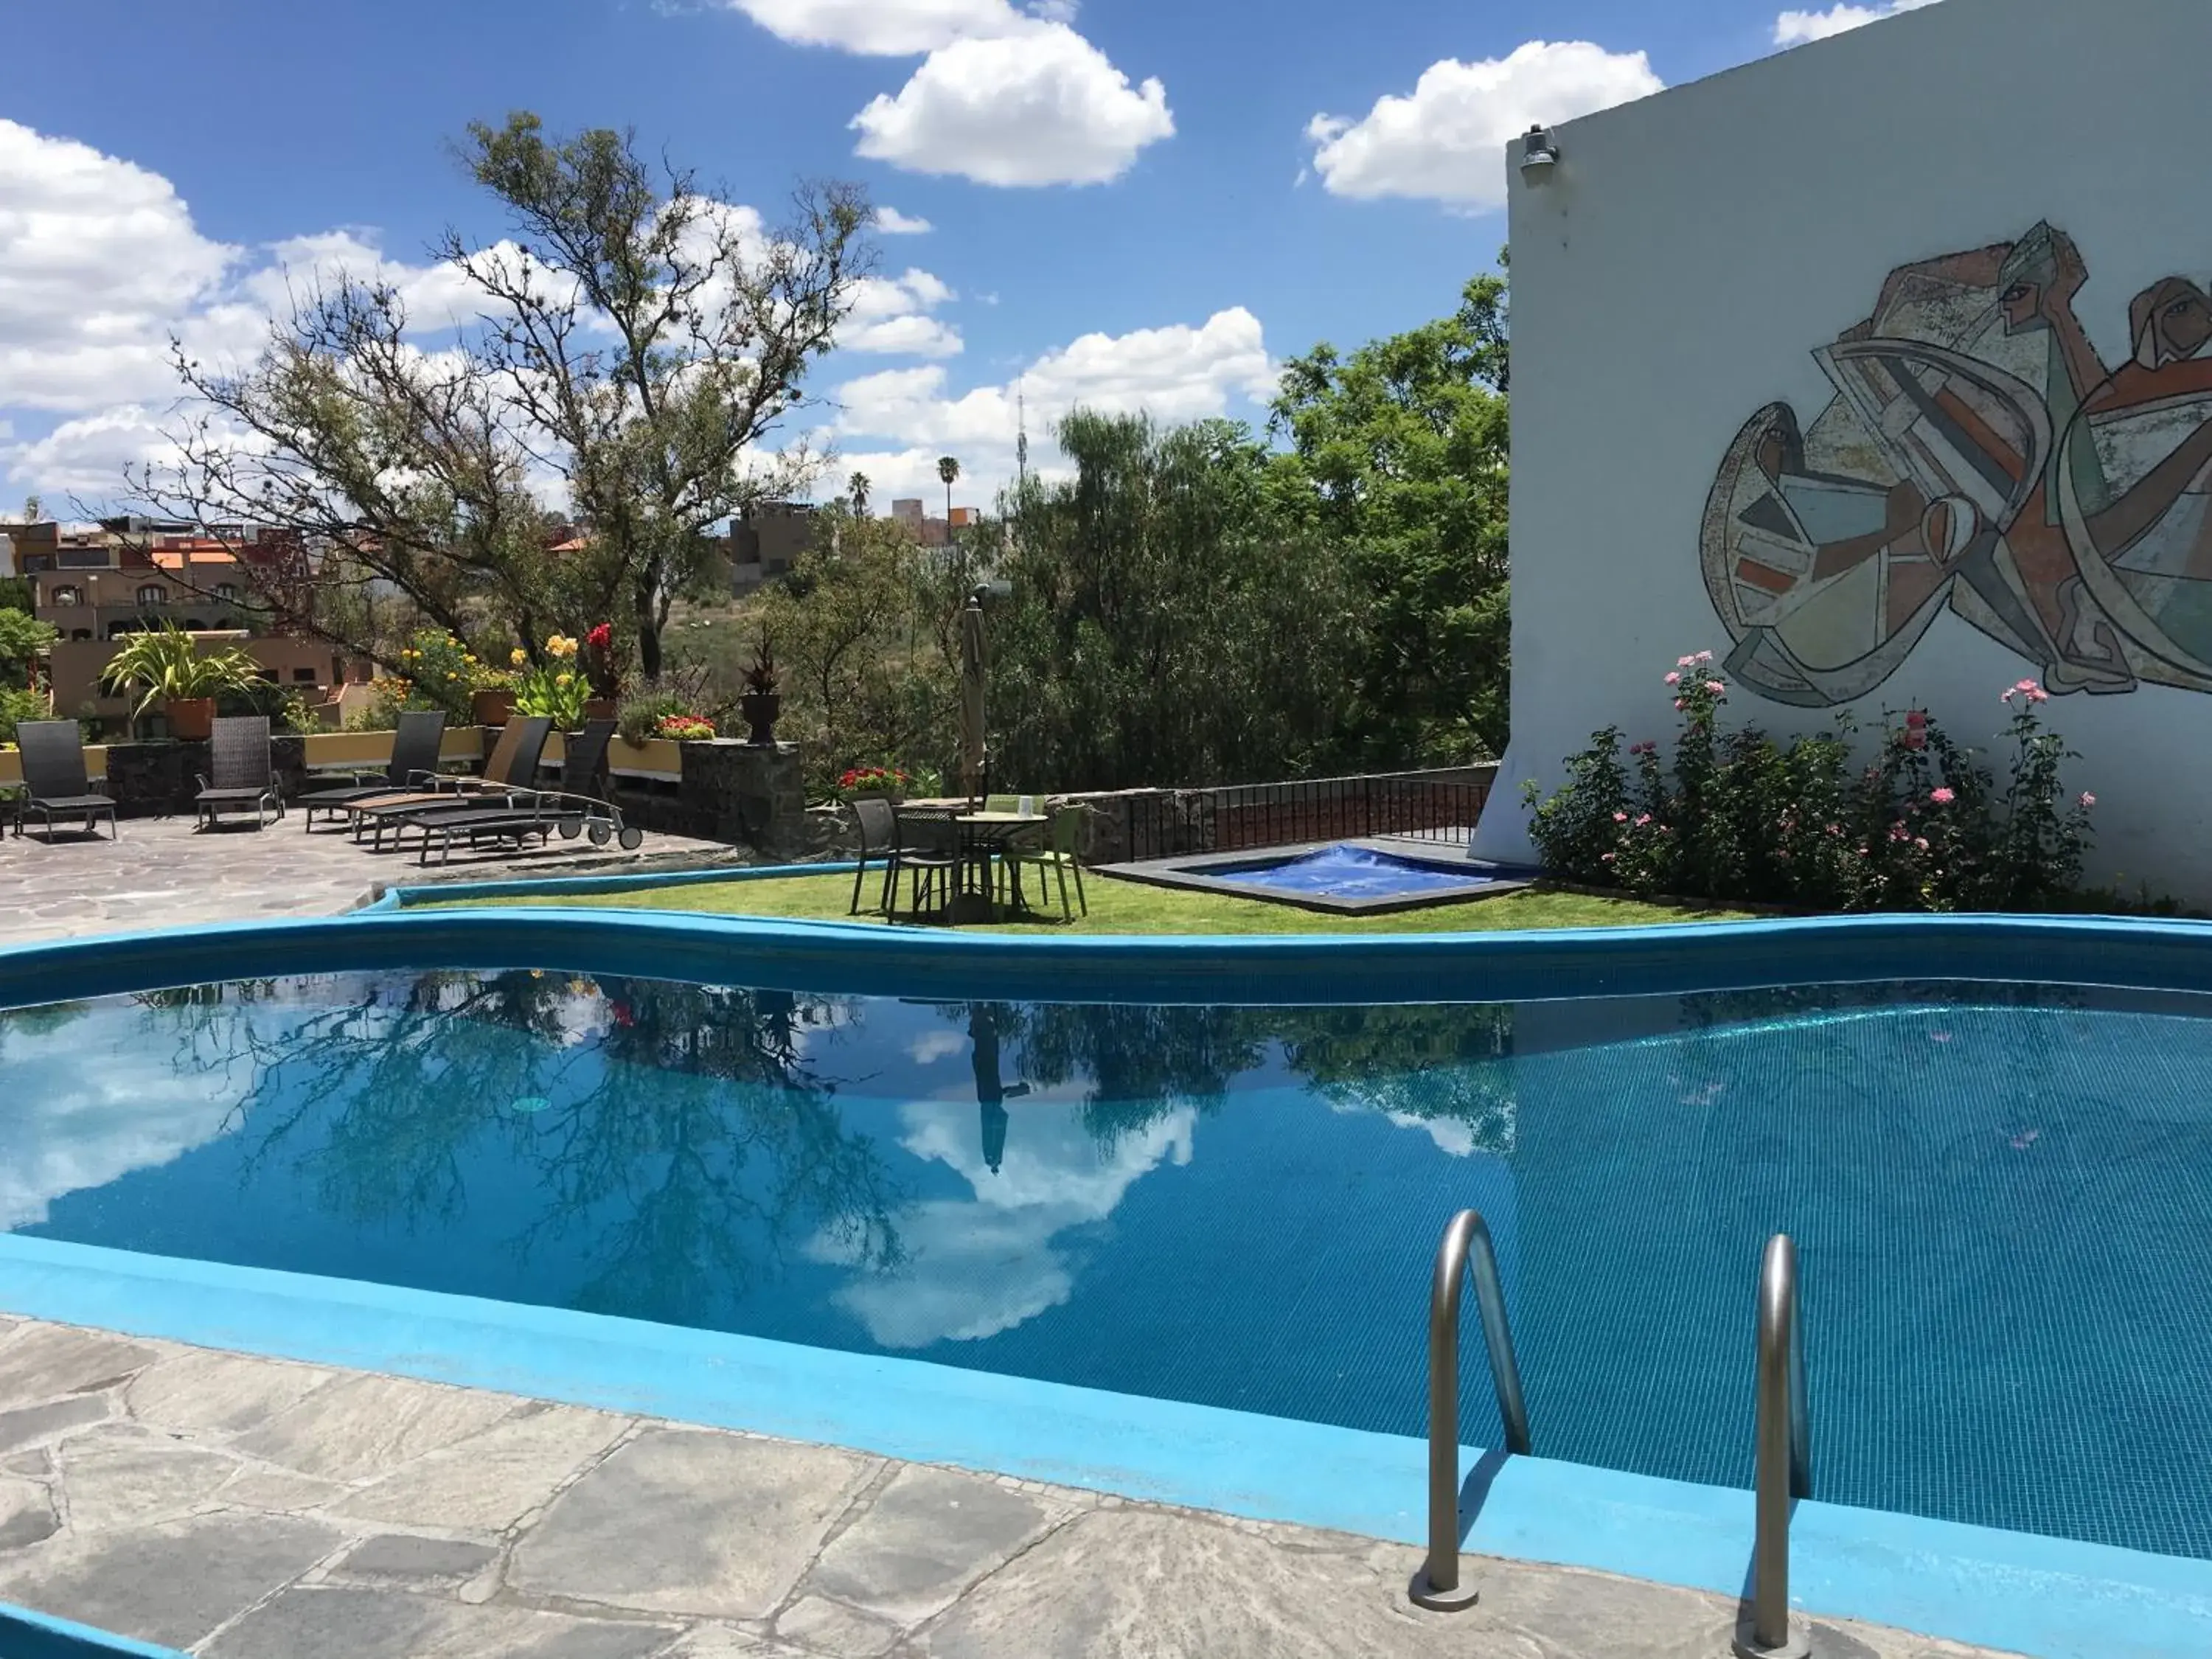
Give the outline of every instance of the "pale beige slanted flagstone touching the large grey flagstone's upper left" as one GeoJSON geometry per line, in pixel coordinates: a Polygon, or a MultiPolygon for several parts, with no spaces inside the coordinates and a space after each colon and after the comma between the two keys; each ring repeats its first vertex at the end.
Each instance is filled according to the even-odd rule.
{"type": "Polygon", "coordinates": [[[347,1515],[500,1533],[606,1451],[628,1418],[555,1405],[434,1451],[345,1498],[347,1515]]]}

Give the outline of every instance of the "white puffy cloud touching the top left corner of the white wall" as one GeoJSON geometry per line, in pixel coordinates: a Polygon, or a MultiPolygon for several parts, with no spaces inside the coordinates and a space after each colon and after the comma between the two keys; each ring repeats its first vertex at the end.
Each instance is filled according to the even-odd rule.
{"type": "Polygon", "coordinates": [[[1478,64],[1444,58],[1405,97],[1378,97],[1360,119],[1316,115],[1305,135],[1332,195],[1420,197],[1482,210],[1506,199],[1506,142],[1517,133],[1663,86],[1639,51],[1531,40],[1478,64]]]}

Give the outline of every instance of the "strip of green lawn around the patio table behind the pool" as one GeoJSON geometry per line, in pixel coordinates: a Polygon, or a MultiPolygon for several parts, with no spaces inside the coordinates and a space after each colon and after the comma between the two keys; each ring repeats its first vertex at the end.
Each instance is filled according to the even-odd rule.
{"type": "MultiPolygon", "coordinates": [[[[1062,922],[1000,922],[1000,933],[1458,933],[1513,927],[1635,927],[1641,922],[1728,922],[1741,911],[1679,909],[1635,898],[1593,894],[1520,891],[1460,905],[1433,905],[1391,916],[1325,916],[1267,905],[1256,898],[1219,898],[1172,887],[1148,887],[1113,876],[1086,876],[1091,916],[1062,922]]],[[[869,883],[874,891],[874,880],[869,883]]],[[[608,909],[681,909],[714,916],[790,916],[803,920],[854,920],[845,916],[852,876],[774,876],[768,880],[690,883],[679,887],[635,887],[617,894],[571,894],[562,898],[484,898],[482,905],[595,905],[608,909]]],[[[863,916],[858,920],[880,920],[863,916]]],[[[978,931],[978,929],[969,929],[978,931]]]]}

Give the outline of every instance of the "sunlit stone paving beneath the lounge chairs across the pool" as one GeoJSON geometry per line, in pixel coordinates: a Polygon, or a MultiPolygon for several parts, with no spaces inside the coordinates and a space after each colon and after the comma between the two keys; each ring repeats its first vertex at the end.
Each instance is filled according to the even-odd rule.
{"type": "Polygon", "coordinates": [[[0,836],[0,945],[77,938],[126,927],[192,927],[265,916],[336,916],[378,887],[500,876],[628,874],[745,865],[743,847],[648,834],[637,852],[553,836],[515,852],[456,849],[449,865],[416,865],[416,852],[369,852],[341,830],[283,823],[192,830],[190,818],[124,818],[122,838],[66,830],[0,836]]]}

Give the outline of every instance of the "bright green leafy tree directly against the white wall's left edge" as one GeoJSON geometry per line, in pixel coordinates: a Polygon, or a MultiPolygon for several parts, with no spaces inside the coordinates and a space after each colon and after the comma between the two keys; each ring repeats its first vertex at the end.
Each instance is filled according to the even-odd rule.
{"type": "Polygon", "coordinates": [[[1270,429],[1287,500],[1345,549],[1371,602],[1352,668],[1347,757],[1402,765],[1502,754],[1506,602],[1506,283],[1349,356],[1283,369],[1270,429]]]}

